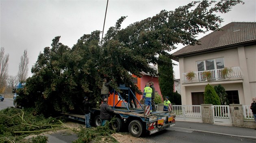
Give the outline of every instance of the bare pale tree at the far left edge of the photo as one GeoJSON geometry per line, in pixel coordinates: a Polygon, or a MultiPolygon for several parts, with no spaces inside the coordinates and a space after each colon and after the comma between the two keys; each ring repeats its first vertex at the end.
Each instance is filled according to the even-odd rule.
{"type": "Polygon", "coordinates": [[[4,55],[4,47],[0,49],[0,93],[3,93],[7,83],[9,54],[4,55]]]}

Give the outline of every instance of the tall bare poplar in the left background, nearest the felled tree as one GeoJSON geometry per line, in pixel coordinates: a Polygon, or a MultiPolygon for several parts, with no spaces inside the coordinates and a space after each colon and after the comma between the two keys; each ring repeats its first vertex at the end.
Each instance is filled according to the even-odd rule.
{"type": "Polygon", "coordinates": [[[23,55],[20,57],[20,65],[18,72],[18,80],[20,82],[26,81],[28,76],[28,52],[24,50],[23,55]]]}

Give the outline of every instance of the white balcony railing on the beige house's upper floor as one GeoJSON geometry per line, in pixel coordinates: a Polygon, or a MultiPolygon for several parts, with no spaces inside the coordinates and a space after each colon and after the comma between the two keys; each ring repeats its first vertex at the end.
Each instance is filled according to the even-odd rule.
{"type": "Polygon", "coordinates": [[[219,80],[239,80],[242,79],[243,73],[240,67],[231,67],[230,73],[227,76],[223,75],[223,69],[213,69],[208,70],[210,73],[208,78],[206,78],[204,71],[194,71],[195,77],[191,80],[188,80],[186,75],[187,73],[182,74],[182,82],[183,83],[191,83],[191,82],[206,82],[206,81],[219,81],[219,80]]]}

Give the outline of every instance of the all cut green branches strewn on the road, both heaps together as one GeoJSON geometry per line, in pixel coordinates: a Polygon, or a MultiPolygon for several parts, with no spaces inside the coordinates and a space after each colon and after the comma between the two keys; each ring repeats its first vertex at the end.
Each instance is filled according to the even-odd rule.
{"type": "MultiPolygon", "coordinates": [[[[7,108],[0,110],[0,143],[47,143],[48,137],[37,135],[30,139],[25,139],[29,135],[40,134],[41,132],[59,129],[70,129],[61,120],[56,118],[45,118],[43,115],[36,115],[34,109],[7,108]]],[[[79,130],[71,129],[78,134],[78,139],[74,143],[89,142],[117,142],[111,136],[115,132],[107,122],[105,126],[96,128],[84,128],[79,130]]]]}

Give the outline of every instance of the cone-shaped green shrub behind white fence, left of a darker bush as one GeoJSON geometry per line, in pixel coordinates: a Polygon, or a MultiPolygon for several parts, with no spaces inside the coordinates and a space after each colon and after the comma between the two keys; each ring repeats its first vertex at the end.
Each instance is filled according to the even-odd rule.
{"type": "Polygon", "coordinates": [[[207,84],[204,89],[204,104],[221,105],[219,96],[210,84],[207,84]]]}

